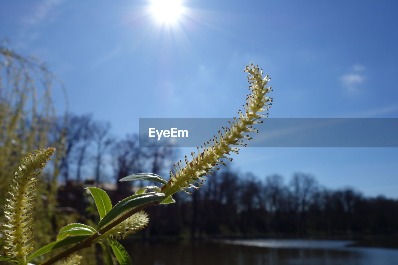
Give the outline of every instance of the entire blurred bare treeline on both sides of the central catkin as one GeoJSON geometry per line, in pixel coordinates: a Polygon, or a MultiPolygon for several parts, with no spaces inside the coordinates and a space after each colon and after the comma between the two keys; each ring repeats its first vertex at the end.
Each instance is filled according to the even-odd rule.
{"type": "MultiPolygon", "coordinates": [[[[177,157],[175,148],[139,148],[137,135],[123,139],[111,136],[109,124],[94,121],[90,115],[71,116],[66,128],[66,156],[60,163],[60,180],[91,177],[97,183],[114,181],[118,187],[113,201],[130,195],[128,183],[119,179],[140,172],[168,175],[177,157]]],[[[364,197],[349,188],[326,189],[309,174],[296,173],[284,183],[279,175],[260,179],[251,173],[238,175],[228,171],[227,166],[210,176],[203,188],[190,191],[191,196],[176,194],[177,203],[173,205],[148,208],[151,221],[144,236],[398,233],[397,200],[364,197]]],[[[62,201],[61,197],[60,206],[62,201]]]]}

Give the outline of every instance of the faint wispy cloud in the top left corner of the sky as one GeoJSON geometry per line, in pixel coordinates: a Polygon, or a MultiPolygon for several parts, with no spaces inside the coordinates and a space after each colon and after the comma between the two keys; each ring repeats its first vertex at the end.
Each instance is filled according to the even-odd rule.
{"type": "Polygon", "coordinates": [[[29,25],[36,25],[44,20],[54,21],[55,16],[50,16],[55,6],[61,4],[63,0],[45,0],[35,7],[33,7],[33,11],[30,16],[27,16],[23,19],[23,22],[29,25]]]}

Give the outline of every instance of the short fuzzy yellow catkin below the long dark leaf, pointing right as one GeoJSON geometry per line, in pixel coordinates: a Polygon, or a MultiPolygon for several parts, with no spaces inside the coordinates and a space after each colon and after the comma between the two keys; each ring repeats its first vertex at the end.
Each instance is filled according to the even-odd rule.
{"type": "Polygon", "coordinates": [[[145,226],[148,225],[148,222],[148,214],[144,211],[140,211],[109,230],[107,235],[117,239],[125,238],[129,234],[135,234],[136,232],[144,229],[145,226]]]}

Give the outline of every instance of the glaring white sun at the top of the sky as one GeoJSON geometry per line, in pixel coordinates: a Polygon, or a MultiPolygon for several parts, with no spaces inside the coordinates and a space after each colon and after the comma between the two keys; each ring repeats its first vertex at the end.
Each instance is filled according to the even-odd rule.
{"type": "Polygon", "coordinates": [[[152,15],[162,23],[175,22],[181,14],[181,0],[152,0],[151,2],[152,15]]]}

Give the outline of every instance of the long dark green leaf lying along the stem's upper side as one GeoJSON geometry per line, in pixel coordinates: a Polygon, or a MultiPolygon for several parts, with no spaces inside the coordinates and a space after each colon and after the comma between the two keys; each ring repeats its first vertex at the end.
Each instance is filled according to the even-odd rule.
{"type": "Polygon", "coordinates": [[[142,205],[144,203],[151,203],[153,201],[164,201],[166,195],[164,193],[143,193],[135,194],[133,196],[127,197],[126,199],[120,201],[115,207],[113,207],[98,223],[98,230],[103,228],[108,222],[115,219],[117,216],[123,212],[130,210],[133,207],[142,205]]]}

